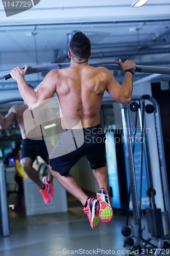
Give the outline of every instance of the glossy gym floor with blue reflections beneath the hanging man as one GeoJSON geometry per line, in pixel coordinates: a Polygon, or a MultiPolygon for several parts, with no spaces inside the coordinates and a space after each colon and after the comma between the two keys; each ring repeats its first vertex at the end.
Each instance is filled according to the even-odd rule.
{"type": "MultiPolygon", "coordinates": [[[[82,209],[79,202],[73,201],[70,196],[68,196],[68,212],[61,214],[27,217],[24,209],[10,208],[10,236],[0,235],[0,255],[112,255],[114,252],[125,255],[123,251],[125,238],[121,230],[126,224],[126,217],[114,214],[110,223],[101,222],[98,228],[92,230],[82,209]]],[[[129,224],[134,223],[132,217],[130,216],[129,224]]],[[[143,237],[148,236],[147,230],[144,230],[143,237]]]]}

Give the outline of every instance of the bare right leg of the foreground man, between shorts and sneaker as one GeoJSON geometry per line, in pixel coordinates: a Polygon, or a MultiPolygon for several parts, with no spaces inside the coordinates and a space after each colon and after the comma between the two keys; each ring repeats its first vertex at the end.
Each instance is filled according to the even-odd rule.
{"type": "Polygon", "coordinates": [[[93,170],[93,175],[98,182],[99,188],[104,187],[107,190],[108,186],[108,170],[107,166],[96,168],[93,170]]]}

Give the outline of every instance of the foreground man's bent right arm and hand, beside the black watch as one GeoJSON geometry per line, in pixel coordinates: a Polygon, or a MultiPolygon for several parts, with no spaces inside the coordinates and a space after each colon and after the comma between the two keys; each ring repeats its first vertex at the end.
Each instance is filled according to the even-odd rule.
{"type": "MultiPolygon", "coordinates": [[[[126,60],[122,63],[119,60],[120,66],[126,69],[135,69],[136,65],[131,60],[126,60]]],[[[122,86],[114,79],[114,76],[110,71],[107,71],[107,86],[106,91],[109,93],[110,97],[115,101],[122,104],[129,104],[132,98],[132,89],[133,89],[133,75],[131,72],[125,73],[125,78],[122,86]]]]}

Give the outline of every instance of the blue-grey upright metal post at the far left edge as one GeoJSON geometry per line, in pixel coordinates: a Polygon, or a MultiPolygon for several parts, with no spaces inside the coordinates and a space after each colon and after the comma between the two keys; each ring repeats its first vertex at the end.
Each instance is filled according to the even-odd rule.
{"type": "Polygon", "coordinates": [[[4,161],[0,160],[0,203],[3,237],[9,236],[9,218],[4,161]]]}

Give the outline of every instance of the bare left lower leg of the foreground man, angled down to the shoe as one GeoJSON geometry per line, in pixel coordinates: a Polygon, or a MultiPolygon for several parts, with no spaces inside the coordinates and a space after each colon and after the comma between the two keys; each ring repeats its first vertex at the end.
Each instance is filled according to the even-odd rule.
{"type": "Polygon", "coordinates": [[[58,182],[74,197],[76,197],[83,205],[85,205],[87,201],[87,196],[84,194],[83,190],[80,188],[77,180],[71,174],[67,174],[66,176],[61,176],[55,170],[52,170],[50,167],[51,173],[53,177],[55,177],[58,182]]]}

